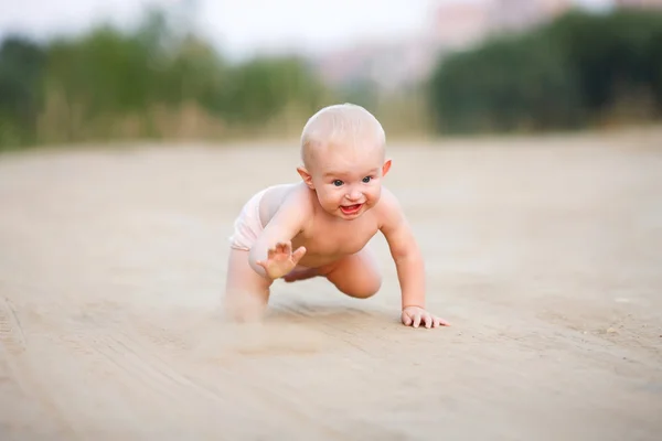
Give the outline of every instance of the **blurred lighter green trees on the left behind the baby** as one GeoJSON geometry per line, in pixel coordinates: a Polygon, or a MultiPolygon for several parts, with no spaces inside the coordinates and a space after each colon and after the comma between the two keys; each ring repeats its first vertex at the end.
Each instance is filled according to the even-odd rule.
{"type": "Polygon", "coordinates": [[[43,46],[6,40],[0,144],[257,130],[292,111],[302,120],[328,96],[302,58],[231,64],[173,22],[150,10],[128,32],[106,24],[43,46]]]}

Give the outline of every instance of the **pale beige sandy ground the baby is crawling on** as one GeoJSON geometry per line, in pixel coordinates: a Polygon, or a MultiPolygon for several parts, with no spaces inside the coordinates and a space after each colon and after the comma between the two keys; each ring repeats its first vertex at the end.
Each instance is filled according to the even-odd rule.
{"type": "Polygon", "coordinates": [[[274,287],[220,313],[242,204],[292,144],[0,155],[0,439],[660,440],[662,131],[397,143],[386,184],[427,262],[399,324],[274,287]]]}

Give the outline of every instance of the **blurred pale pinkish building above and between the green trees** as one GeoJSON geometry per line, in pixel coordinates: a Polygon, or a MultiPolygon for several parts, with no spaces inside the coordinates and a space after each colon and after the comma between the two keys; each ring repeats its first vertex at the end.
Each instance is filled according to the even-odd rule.
{"type": "Polygon", "coordinates": [[[525,31],[574,6],[573,0],[433,2],[417,34],[356,42],[322,54],[316,66],[332,86],[367,82],[381,90],[394,90],[426,77],[437,60],[449,53],[478,44],[493,33],[525,31]]]}

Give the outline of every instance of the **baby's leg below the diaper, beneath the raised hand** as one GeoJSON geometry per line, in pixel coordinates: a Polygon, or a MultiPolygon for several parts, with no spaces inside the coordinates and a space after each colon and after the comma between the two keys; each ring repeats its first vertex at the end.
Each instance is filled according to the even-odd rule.
{"type": "Polygon", "coordinates": [[[225,281],[225,309],[235,320],[261,316],[269,301],[271,281],[250,267],[248,251],[231,248],[225,281]]]}

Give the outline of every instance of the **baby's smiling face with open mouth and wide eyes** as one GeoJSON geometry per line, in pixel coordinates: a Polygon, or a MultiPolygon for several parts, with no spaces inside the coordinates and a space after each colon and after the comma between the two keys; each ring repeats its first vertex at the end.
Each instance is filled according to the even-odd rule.
{"type": "Polygon", "coordinates": [[[387,171],[381,147],[322,149],[311,170],[312,183],[324,211],[344,219],[360,217],[375,206],[387,171]]]}

